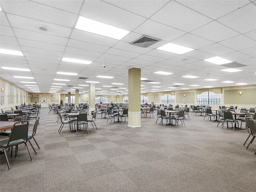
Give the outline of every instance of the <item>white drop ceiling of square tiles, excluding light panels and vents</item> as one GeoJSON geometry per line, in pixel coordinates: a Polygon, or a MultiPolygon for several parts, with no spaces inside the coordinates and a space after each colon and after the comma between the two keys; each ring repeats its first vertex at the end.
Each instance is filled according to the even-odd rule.
{"type": "MultiPolygon", "coordinates": [[[[200,89],[238,86],[236,83],[256,84],[256,2],[253,0],[1,0],[0,6],[0,48],[21,51],[24,55],[0,54],[0,65],[31,70],[20,72],[0,68],[0,76],[28,92],[30,89],[20,83],[28,80],[13,76],[34,77],[44,93],[55,86],[52,83],[65,83],[60,88],[63,91],[58,91],[63,93],[70,90],[70,85],[88,85],[85,81],[100,82],[96,84],[96,88],[102,88],[100,91],[128,93],[125,89],[110,90],[104,86],[128,90],[128,69],[132,67],[141,69],[142,78],[160,82],[142,81],[144,92],[154,91],[152,86],[160,86],[159,92],[169,90],[173,83],[183,84],[173,90],[194,89],[190,85],[199,85],[196,88],[200,89]],[[79,16],[130,33],[116,40],[78,30],[75,26],[79,16]],[[48,30],[40,30],[42,26],[48,30]],[[160,41],[147,48],[130,44],[143,35],[160,41]],[[167,43],[194,50],[180,55],[157,49],[167,43]],[[215,56],[234,62],[234,66],[204,61],[215,56]],[[63,62],[63,57],[92,63],[63,62]],[[242,71],[221,71],[232,66],[242,71]],[[173,74],[155,74],[157,71],[173,74]],[[114,78],[97,78],[98,75],[114,78]],[[186,75],[198,78],[182,77],[186,75]],[[56,82],[54,78],[70,81],[56,82]]],[[[80,91],[88,91],[88,86],[80,91]]]]}

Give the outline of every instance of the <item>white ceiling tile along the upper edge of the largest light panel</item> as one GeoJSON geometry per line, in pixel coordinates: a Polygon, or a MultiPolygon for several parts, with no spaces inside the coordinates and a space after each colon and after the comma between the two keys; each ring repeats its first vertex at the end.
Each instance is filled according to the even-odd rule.
{"type": "Polygon", "coordinates": [[[132,14],[102,1],[86,1],[80,15],[128,31],[134,30],[146,20],[142,16],[132,14]]]}

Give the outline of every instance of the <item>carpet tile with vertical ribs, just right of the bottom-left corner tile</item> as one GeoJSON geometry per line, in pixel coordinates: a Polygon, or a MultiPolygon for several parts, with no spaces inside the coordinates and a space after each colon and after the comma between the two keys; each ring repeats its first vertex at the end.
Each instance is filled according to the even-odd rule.
{"type": "Polygon", "coordinates": [[[54,189],[86,179],[78,165],[46,171],[44,174],[44,190],[54,189]]]}

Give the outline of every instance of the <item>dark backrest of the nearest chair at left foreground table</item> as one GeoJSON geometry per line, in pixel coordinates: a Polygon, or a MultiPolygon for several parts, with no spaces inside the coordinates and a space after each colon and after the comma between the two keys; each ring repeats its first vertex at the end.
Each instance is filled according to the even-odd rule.
{"type": "Polygon", "coordinates": [[[25,140],[25,142],[27,142],[28,140],[28,122],[27,121],[14,123],[7,146],[9,145],[10,142],[19,140],[19,139],[23,139],[25,140]]]}

